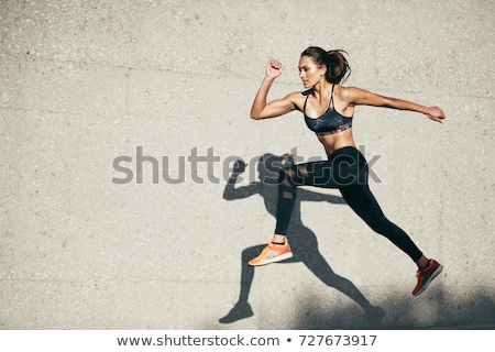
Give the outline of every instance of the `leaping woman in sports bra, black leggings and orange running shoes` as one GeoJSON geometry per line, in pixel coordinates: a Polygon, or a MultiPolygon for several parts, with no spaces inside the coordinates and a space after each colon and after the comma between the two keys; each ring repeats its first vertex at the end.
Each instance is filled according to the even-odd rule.
{"type": "Polygon", "coordinates": [[[367,185],[369,168],[364,156],[355,148],[352,136],[354,107],[359,105],[421,112],[442,123],[444,113],[438,107],[424,107],[410,101],[383,97],[341,84],[350,74],[343,51],[327,52],[310,46],[299,59],[299,76],[304,92],[293,92],[283,99],[266,102],[273,81],[284,66],[271,61],[265,78],[254,98],[251,118],[262,120],[286,114],[293,110],[304,113],[306,124],[324,147],[328,161],[294,165],[279,173],[277,222],[275,233],[262,253],[250,265],[265,265],[293,257],[286,233],[295,205],[297,186],[338,188],[348,205],[375,232],[386,237],[417,264],[417,296],[440,274],[442,265],[428,258],[400,228],[383,213],[367,185]]]}

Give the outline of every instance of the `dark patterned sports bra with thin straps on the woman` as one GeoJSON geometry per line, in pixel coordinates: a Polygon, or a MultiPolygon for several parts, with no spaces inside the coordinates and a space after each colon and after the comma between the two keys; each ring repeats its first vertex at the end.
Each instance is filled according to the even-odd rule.
{"type": "Polygon", "coordinates": [[[305,106],[302,108],[306,125],[318,136],[340,133],[352,128],[352,117],[344,117],[333,108],[334,87],[336,85],[332,86],[329,108],[318,119],[308,118],[308,116],[306,114],[306,103],[308,102],[308,97],[312,92],[312,89],[302,91],[302,95],[306,96],[305,106]]]}

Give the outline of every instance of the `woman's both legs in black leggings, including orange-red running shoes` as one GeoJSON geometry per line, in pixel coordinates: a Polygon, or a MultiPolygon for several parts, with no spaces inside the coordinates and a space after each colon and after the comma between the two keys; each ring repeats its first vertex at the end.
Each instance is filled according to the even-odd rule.
{"type": "Polygon", "coordinates": [[[286,241],[286,231],[295,204],[297,186],[339,188],[345,201],[358,216],[416,262],[418,283],[413,295],[417,296],[422,293],[441,273],[442,265],[432,258],[427,258],[409,235],[385,217],[370,190],[364,156],[353,147],[336,151],[328,162],[299,164],[280,173],[275,235],[262,254],[250,261],[250,265],[268,264],[293,256],[286,241]]]}

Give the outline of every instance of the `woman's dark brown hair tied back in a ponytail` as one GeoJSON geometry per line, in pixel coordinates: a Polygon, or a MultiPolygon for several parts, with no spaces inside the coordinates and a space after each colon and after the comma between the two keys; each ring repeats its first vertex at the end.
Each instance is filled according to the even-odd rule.
{"type": "Polygon", "coordinates": [[[309,56],[319,67],[326,66],[324,78],[331,84],[341,84],[351,75],[351,67],[342,50],[324,51],[318,46],[309,46],[300,56],[309,56]]]}

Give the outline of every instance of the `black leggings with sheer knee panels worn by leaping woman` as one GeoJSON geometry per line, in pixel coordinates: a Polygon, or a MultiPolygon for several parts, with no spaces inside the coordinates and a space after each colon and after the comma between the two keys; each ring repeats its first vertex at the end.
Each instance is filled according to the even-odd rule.
{"type": "Polygon", "coordinates": [[[421,251],[406,232],[385,218],[370,190],[367,175],[366,160],[352,146],[337,150],[328,161],[298,164],[280,170],[275,233],[287,233],[297,186],[338,188],[348,205],[373,231],[386,237],[413,261],[418,261],[421,251]]]}

